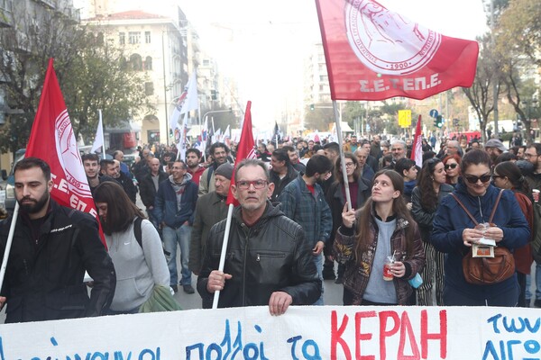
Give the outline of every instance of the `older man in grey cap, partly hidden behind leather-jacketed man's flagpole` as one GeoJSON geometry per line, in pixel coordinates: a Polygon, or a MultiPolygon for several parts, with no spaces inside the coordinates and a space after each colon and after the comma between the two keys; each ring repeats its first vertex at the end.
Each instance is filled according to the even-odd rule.
{"type": "Polygon", "coordinates": [[[199,275],[205,257],[206,238],[213,225],[227,217],[227,193],[233,175],[233,165],[222,164],[215,169],[215,191],[199,196],[196,217],[189,246],[189,269],[199,275]]]}

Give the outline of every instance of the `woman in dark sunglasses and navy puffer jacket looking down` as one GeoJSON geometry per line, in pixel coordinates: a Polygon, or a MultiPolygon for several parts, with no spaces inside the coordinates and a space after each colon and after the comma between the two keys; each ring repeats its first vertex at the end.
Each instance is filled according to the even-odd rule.
{"type": "MultiPolygon", "coordinates": [[[[475,222],[488,223],[500,189],[491,185],[491,157],[483,150],[472,150],[461,162],[463,180],[454,195],[470,211],[475,222]]],[[[523,247],[530,237],[527,220],[518,209],[513,193],[504,191],[496,207],[492,223],[485,230],[476,224],[453,196],[442,200],[434,218],[431,241],[445,258],[445,306],[516,306],[520,292],[517,275],[497,284],[470,284],[463,275],[463,257],[472,244],[491,238],[501,247],[523,247]]]]}

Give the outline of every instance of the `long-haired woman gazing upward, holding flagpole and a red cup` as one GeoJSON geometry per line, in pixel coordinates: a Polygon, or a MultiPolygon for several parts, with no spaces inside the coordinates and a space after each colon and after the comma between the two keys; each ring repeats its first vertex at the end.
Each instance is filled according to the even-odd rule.
{"type": "Polygon", "coordinates": [[[344,305],[408,305],[408,280],[425,265],[425,252],[403,191],[401,175],[381,170],[362,209],[344,206],[335,237],[336,260],[345,264],[344,305]]]}

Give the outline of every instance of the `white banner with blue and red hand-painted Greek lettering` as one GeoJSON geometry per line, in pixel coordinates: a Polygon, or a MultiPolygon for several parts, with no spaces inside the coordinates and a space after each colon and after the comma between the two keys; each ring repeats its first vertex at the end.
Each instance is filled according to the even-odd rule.
{"type": "Polygon", "coordinates": [[[536,309],[266,307],[0,325],[1,360],[541,358],[536,309]]]}

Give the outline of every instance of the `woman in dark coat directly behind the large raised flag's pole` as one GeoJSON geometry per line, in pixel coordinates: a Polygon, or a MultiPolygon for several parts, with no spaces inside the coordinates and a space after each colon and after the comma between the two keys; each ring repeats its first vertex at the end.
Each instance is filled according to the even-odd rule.
{"type": "MultiPolygon", "coordinates": [[[[350,191],[350,198],[352,200],[352,208],[354,210],[359,209],[364,205],[364,202],[368,200],[371,195],[371,181],[362,177],[361,169],[357,157],[351,152],[344,153],[345,172],[347,175],[347,183],[350,191]]],[[[342,210],[345,204],[345,186],[344,175],[342,175],[342,159],[338,157],[335,165],[335,182],[331,184],[328,190],[328,194],[331,198],[327,198],[331,212],[333,213],[333,230],[331,231],[330,238],[335,238],[336,229],[342,225],[342,210]]],[[[335,280],[336,284],[343,283],[345,266],[338,265],[338,274],[335,280]]]]}

